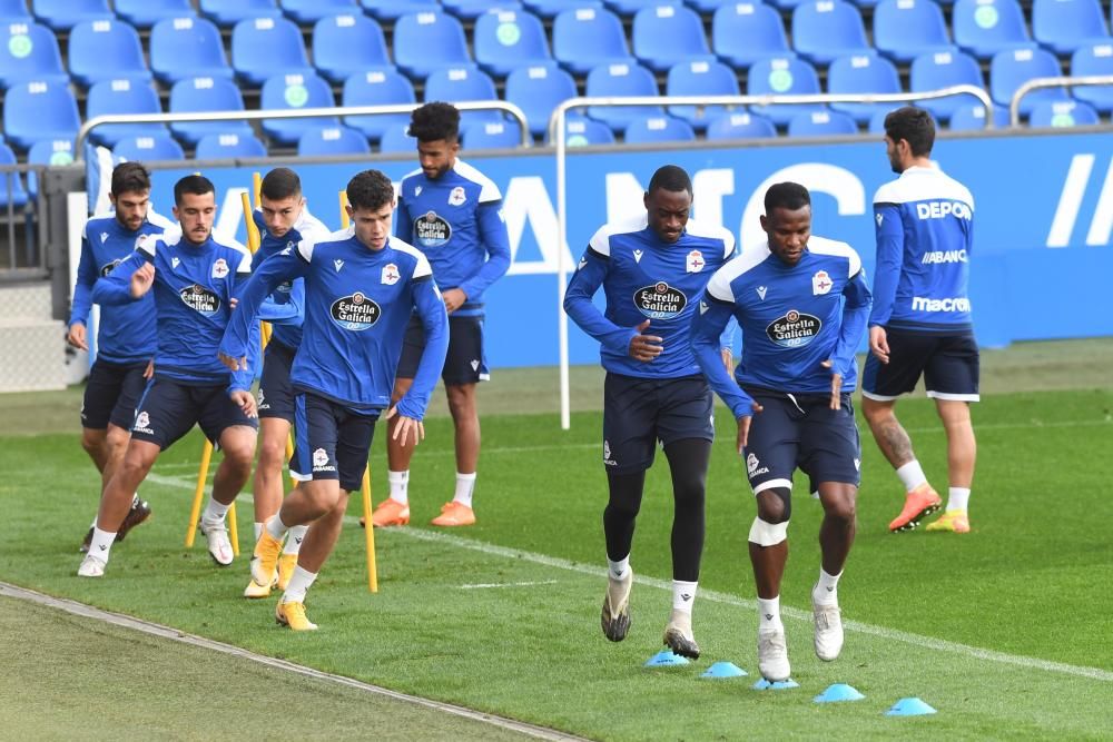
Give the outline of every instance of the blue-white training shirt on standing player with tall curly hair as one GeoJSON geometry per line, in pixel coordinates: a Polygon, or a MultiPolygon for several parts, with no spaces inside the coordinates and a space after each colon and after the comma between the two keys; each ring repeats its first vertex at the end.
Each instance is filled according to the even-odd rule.
{"type": "Polygon", "coordinates": [[[429,259],[442,290],[467,299],[452,313],[483,315],[483,291],[510,268],[502,194],[482,172],[457,159],[435,180],[421,170],[402,179],[395,234],[429,259]]]}

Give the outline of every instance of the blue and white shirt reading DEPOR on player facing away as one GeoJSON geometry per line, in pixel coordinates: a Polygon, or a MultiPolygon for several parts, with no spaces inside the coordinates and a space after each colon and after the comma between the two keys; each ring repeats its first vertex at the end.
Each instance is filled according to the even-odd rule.
{"type": "Polygon", "coordinates": [[[935,167],[912,167],[874,196],[877,267],[869,325],[968,332],[974,197],[935,167]]]}

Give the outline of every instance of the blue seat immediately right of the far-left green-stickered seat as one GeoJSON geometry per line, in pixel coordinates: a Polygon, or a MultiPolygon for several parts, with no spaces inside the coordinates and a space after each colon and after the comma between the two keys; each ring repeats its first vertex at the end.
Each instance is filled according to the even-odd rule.
{"type": "Polygon", "coordinates": [[[88,88],[100,80],[150,80],[139,33],[118,20],[82,21],[70,31],[70,75],[88,88]]]}

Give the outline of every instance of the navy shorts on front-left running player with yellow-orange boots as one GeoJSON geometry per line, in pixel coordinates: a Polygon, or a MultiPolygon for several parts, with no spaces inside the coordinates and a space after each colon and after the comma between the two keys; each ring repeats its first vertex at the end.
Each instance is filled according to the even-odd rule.
{"type": "Polygon", "coordinates": [[[315,394],[295,397],[290,476],[301,482],[339,479],[354,492],[363,484],[378,413],[358,414],[315,394]]]}

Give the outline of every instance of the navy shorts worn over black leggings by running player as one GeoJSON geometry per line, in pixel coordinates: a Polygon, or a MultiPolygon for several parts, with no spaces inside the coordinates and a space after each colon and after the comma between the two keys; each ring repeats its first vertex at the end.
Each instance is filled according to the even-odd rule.
{"type": "Polygon", "coordinates": [[[640,378],[608,372],[603,382],[603,465],[643,472],[657,443],[715,441],[713,397],[703,376],[640,378]]]}

